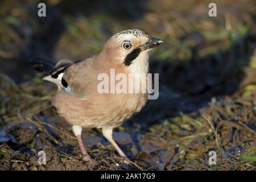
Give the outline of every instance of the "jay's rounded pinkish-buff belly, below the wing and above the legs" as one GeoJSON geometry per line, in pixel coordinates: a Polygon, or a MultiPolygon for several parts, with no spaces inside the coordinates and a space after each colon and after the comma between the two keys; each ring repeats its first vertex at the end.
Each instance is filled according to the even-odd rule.
{"type": "Polygon", "coordinates": [[[146,104],[144,95],[115,95],[81,99],[58,92],[53,105],[61,117],[71,125],[82,127],[118,126],[137,113],[146,104]]]}

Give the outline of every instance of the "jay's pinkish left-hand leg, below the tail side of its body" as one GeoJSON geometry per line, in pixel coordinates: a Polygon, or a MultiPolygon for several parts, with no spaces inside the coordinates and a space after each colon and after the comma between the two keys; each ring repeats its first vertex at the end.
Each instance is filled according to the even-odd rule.
{"type": "Polygon", "coordinates": [[[73,125],[72,129],[73,129],[73,132],[74,132],[74,134],[77,138],[77,141],[79,142],[79,146],[80,146],[81,151],[82,151],[82,155],[83,155],[82,160],[84,160],[85,162],[88,162],[88,163],[92,163],[93,160],[90,158],[90,156],[86,152],[85,147],[84,147],[84,143],[82,143],[82,137],[81,137],[82,127],[78,126],[78,125],[73,125]]]}

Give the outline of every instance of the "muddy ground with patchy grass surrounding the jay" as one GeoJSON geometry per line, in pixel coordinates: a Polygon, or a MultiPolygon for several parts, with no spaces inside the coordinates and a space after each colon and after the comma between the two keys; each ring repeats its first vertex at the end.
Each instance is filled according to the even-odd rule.
{"type": "Polygon", "coordinates": [[[216,1],[215,18],[208,1],[46,3],[44,19],[36,1],[0,3],[0,170],[256,169],[254,1],[216,1]],[[164,41],[150,59],[159,98],[114,131],[133,164],[123,163],[99,129],[84,129],[94,159],[88,165],[71,125],[51,105],[55,85],[29,60],[93,55],[127,28],[164,41]],[[208,164],[209,151],[216,165],[208,164]]]}

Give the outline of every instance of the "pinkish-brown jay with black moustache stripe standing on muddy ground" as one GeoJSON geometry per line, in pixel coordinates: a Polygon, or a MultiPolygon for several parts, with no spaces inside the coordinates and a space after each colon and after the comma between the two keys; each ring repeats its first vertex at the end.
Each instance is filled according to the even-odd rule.
{"type": "MultiPolygon", "coordinates": [[[[93,163],[93,160],[82,142],[82,128],[101,128],[104,137],[125,159],[123,161],[130,163],[113,139],[113,129],[141,111],[146,105],[149,93],[100,93],[98,76],[102,73],[109,76],[113,69],[116,75],[147,74],[149,52],[161,43],[162,40],[151,38],[141,30],[131,29],[114,34],[98,55],[77,61],[64,59],[56,63],[43,60],[34,62],[34,68],[40,71],[46,69],[44,72],[47,76],[43,80],[57,85],[52,104],[60,117],[72,125],[81,148],[82,160],[86,163],[93,163]]],[[[148,78],[147,81],[148,84],[151,83],[148,78]]],[[[114,84],[117,84],[117,80],[114,84]]],[[[142,90],[142,87],[139,90],[142,90]]]]}

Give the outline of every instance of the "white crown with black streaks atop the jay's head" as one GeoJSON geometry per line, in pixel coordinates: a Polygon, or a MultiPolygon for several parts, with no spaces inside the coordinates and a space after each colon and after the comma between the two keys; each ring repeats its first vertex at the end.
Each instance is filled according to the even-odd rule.
{"type": "Polygon", "coordinates": [[[121,31],[113,35],[112,38],[116,38],[116,39],[119,39],[120,41],[123,41],[123,40],[131,40],[134,38],[142,38],[142,37],[148,37],[148,35],[141,30],[131,29],[131,30],[121,31]]]}

